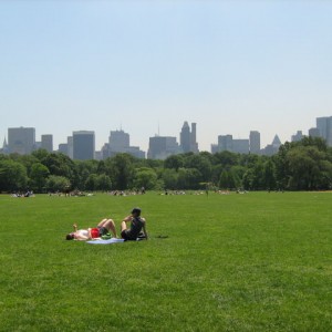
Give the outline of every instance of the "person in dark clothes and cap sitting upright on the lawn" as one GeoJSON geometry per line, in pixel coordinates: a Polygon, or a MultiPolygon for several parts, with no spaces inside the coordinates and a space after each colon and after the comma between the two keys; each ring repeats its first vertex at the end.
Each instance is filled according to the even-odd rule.
{"type": "Polygon", "coordinates": [[[125,241],[135,241],[137,238],[145,238],[147,240],[146,220],[141,217],[139,208],[134,208],[132,214],[123,219],[121,224],[121,237],[125,241]],[[131,222],[129,229],[127,229],[127,222],[131,222]]]}

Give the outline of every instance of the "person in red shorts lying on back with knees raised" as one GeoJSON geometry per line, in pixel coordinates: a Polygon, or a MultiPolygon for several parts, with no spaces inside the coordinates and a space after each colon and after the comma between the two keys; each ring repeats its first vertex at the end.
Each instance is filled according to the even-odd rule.
{"type": "Polygon", "coordinates": [[[77,225],[74,224],[74,231],[65,236],[66,240],[86,241],[95,238],[100,238],[110,231],[116,238],[116,229],[112,219],[103,219],[95,228],[77,229],[77,225]]]}

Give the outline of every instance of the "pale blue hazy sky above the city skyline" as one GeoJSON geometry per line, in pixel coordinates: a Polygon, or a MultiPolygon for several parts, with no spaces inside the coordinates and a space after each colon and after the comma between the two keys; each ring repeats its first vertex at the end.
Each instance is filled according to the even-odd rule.
{"type": "Polygon", "coordinates": [[[289,141],[332,115],[332,1],[0,1],[0,138],[32,126],[289,141]]]}

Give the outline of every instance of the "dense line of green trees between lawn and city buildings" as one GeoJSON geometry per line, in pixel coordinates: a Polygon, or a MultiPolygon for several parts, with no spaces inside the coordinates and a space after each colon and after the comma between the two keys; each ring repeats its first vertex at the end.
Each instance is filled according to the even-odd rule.
{"type": "Polygon", "coordinates": [[[44,149],[0,155],[0,191],[77,190],[325,190],[332,188],[332,148],[318,137],[283,144],[273,156],[230,152],[173,155],[165,160],[117,154],[72,160],[44,149]]]}

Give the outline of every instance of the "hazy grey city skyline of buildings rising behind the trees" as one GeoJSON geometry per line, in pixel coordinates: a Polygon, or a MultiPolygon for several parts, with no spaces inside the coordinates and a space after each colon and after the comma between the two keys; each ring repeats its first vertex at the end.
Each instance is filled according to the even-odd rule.
{"type": "MultiPolygon", "coordinates": [[[[297,131],[290,139],[284,142],[298,142],[304,136],[322,137],[329,146],[332,146],[332,116],[320,116],[315,118],[317,125],[310,127],[307,133],[297,131]]],[[[53,146],[53,135],[42,134],[41,141],[37,141],[34,127],[11,127],[8,128],[8,139],[3,139],[3,148],[0,152],[19,154],[30,154],[38,148],[45,148],[51,152],[53,146]]],[[[211,143],[208,152],[216,153],[229,151],[234,153],[247,154],[276,154],[281,144],[278,134],[274,135],[270,144],[262,145],[260,132],[250,131],[246,137],[237,138],[232,134],[220,134],[217,137],[217,144],[211,143]]],[[[178,136],[160,136],[156,134],[149,136],[148,149],[142,151],[141,146],[131,145],[131,134],[123,129],[110,131],[108,141],[104,142],[98,149],[95,145],[95,131],[73,131],[72,136],[66,136],[66,143],[53,146],[54,152],[66,154],[73,159],[105,159],[117,153],[128,153],[138,158],[166,158],[173,154],[179,153],[198,153],[204,149],[198,148],[197,123],[191,123],[191,128],[187,121],[184,122],[178,136]],[[75,138],[81,137],[81,138],[75,138]],[[76,142],[76,144],[75,144],[76,142]],[[79,142],[82,142],[79,144],[79,142]],[[90,146],[89,148],[86,146],[90,146]],[[85,146],[85,147],[84,147],[85,146]],[[90,151],[90,152],[89,152],[90,151]]]]}

